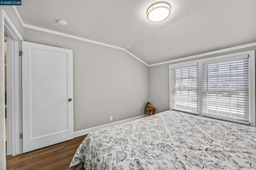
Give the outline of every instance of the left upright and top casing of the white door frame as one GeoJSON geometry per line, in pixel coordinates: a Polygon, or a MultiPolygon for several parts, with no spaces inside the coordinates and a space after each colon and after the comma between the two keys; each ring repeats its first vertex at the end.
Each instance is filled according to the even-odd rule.
{"type": "Polygon", "coordinates": [[[5,102],[4,102],[4,32],[14,41],[23,41],[22,36],[6,14],[0,12],[0,169],[6,169],[6,145],[5,145],[5,102]]]}

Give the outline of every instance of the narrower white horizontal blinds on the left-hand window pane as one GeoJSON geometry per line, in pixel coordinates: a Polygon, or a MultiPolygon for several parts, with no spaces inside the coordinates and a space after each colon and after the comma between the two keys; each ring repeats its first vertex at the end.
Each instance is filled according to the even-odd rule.
{"type": "Polygon", "coordinates": [[[171,68],[171,109],[198,114],[198,64],[171,68]]]}

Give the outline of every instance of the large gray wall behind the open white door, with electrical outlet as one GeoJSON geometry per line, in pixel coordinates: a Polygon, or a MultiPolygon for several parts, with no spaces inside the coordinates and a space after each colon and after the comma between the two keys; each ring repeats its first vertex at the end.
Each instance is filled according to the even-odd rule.
{"type": "Polygon", "coordinates": [[[134,57],[118,49],[34,29],[24,28],[23,38],[73,50],[74,131],[144,114],[149,68],[134,57]]]}

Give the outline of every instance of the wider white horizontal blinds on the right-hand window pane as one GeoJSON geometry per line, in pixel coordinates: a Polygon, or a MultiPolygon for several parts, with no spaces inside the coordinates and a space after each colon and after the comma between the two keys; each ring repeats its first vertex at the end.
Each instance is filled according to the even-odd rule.
{"type": "Polygon", "coordinates": [[[249,124],[248,56],[203,64],[203,115],[249,124]]]}

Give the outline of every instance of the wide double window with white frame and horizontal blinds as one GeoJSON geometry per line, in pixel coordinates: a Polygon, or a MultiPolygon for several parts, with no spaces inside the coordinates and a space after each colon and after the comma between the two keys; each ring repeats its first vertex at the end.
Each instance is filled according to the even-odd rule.
{"type": "Polygon", "coordinates": [[[170,109],[256,125],[255,51],[170,65],[170,109]]]}

